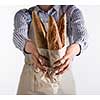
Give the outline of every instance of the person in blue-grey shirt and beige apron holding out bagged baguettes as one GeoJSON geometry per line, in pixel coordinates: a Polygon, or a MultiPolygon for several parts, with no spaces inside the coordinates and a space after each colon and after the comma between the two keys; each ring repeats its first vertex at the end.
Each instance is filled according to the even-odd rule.
{"type": "MultiPolygon", "coordinates": [[[[57,66],[54,72],[57,75],[65,74],[66,83],[60,82],[60,88],[57,94],[75,94],[75,84],[70,69],[70,65],[74,56],[79,56],[87,47],[87,31],[84,25],[84,19],[81,11],[74,5],[37,5],[30,9],[22,9],[18,11],[14,17],[14,34],[13,42],[25,55],[25,65],[20,77],[17,94],[53,94],[49,85],[46,85],[46,93],[39,91],[37,77],[34,76],[34,66],[42,71],[46,71],[48,65],[47,59],[38,53],[32,40],[29,38],[30,25],[32,22],[32,11],[36,11],[41,18],[45,27],[48,23],[48,17],[53,16],[58,20],[64,12],[67,15],[67,35],[70,45],[66,49],[65,55],[54,63],[57,66]]],[[[31,31],[33,31],[31,29],[31,31]]],[[[42,89],[43,90],[43,89],[42,89]]]]}

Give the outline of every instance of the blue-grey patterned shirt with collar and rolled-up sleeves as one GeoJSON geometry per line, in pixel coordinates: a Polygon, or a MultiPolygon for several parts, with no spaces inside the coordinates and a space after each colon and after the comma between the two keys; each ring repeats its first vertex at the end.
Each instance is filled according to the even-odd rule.
{"type": "MultiPolygon", "coordinates": [[[[47,23],[48,16],[53,16],[56,20],[59,19],[61,11],[67,14],[67,35],[70,44],[78,43],[83,51],[87,47],[87,30],[84,25],[84,19],[81,11],[76,6],[71,6],[66,10],[69,5],[54,5],[47,12],[41,10],[39,6],[34,6],[34,10],[43,21],[47,23]]],[[[15,46],[24,51],[25,43],[29,39],[29,24],[32,21],[31,14],[27,9],[19,10],[14,17],[14,33],[13,42],[15,46]]]]}

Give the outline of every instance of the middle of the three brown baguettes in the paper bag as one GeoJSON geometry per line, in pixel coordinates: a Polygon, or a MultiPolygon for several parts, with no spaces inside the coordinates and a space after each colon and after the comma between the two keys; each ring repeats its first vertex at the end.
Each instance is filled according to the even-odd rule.
{"type": "Polygon", "coordinates": [[[57,23],[52,16],[49,16],[48,20],[47,42],[49,50],[59,50],[62,48],[57,23]]]}

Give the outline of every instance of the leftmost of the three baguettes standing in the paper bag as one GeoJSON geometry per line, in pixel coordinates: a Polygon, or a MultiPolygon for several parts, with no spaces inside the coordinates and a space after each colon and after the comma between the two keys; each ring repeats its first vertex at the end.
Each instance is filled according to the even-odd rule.
{"type": "Polygon", "coordinates": [[[32,12],[32,26],[35,33],[32,39],[35,38],[36,46],[38,48],[47,49],[46,31],[42,21],[35,11],[32,12]]]}

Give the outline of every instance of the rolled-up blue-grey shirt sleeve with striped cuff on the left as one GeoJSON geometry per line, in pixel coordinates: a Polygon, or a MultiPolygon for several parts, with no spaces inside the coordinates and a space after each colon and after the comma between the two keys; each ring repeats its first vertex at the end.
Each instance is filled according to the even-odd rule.
{"type": "Polygon", "coordinates": [[[25,9],[20,10],[14,17],[13,42],[16,48],[21,51],[24,50],[26,40],[28,40],[28,22],[30,16],[25,12],[25,9]]]}

